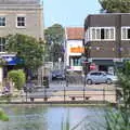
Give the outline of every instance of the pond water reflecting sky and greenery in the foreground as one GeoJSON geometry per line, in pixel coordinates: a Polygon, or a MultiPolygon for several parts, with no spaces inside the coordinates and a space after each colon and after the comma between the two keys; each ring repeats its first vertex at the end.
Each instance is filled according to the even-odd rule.
{"type": "Polygon", "coordinates": [[[89,130],[88,126],[104,125],[104,107],[43,105],[5,105],[0,107],[10,118],[6,122],[0,121],[0,130],[62,130],[63,123],[65,125],[67,121],[70,130],[79,122],[79,126],[83,126],[83,128],[77,127],[74,130],[89,130]]]}

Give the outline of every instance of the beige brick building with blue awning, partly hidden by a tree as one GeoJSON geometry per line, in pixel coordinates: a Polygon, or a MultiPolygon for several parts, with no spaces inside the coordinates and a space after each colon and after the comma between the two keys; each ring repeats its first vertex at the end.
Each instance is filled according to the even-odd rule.
{"type": "MultiPolygon", "coordinates": [[[[23,34],[43,39],[43,12],[40,0],[0,0],[0,56],[8,62],[5,69],[15,65],[4,50],[8,35],[23,34]]],[[[0,82],[2,81],[0,69],[0,82]]]]}

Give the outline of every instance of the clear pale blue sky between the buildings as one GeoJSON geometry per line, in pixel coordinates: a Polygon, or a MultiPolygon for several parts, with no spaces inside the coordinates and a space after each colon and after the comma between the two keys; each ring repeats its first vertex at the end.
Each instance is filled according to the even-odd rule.
{"type": "Polygon", "coordinates": [[[43,0],[44,27],[83,27],[88,14],[100,13],[99,0],[43,0]]]}

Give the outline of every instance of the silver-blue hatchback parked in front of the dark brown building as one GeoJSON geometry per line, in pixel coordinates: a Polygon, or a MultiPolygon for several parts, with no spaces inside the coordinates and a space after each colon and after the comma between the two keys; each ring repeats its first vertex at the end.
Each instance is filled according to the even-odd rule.
{"type": "Polygon", "coordinates": [[[86,77],[86,81],[88,84],[92,84],[92,83],[110,84],[116,82],[117,80],[118,80],[117,76],[105,72],[90,72],[86,77]]]}

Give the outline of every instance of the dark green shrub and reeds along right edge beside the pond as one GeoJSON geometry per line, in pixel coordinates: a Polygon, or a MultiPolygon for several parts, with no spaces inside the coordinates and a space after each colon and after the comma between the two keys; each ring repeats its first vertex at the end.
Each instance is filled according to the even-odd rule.
{"type": "Polygon", "coordinates": [[[130,129],[130,61],[123,63],[121,69],[117,69],[117,87],[122,90],[122,105],[116,110],[106,113],[106,130],[130,129]]]}

